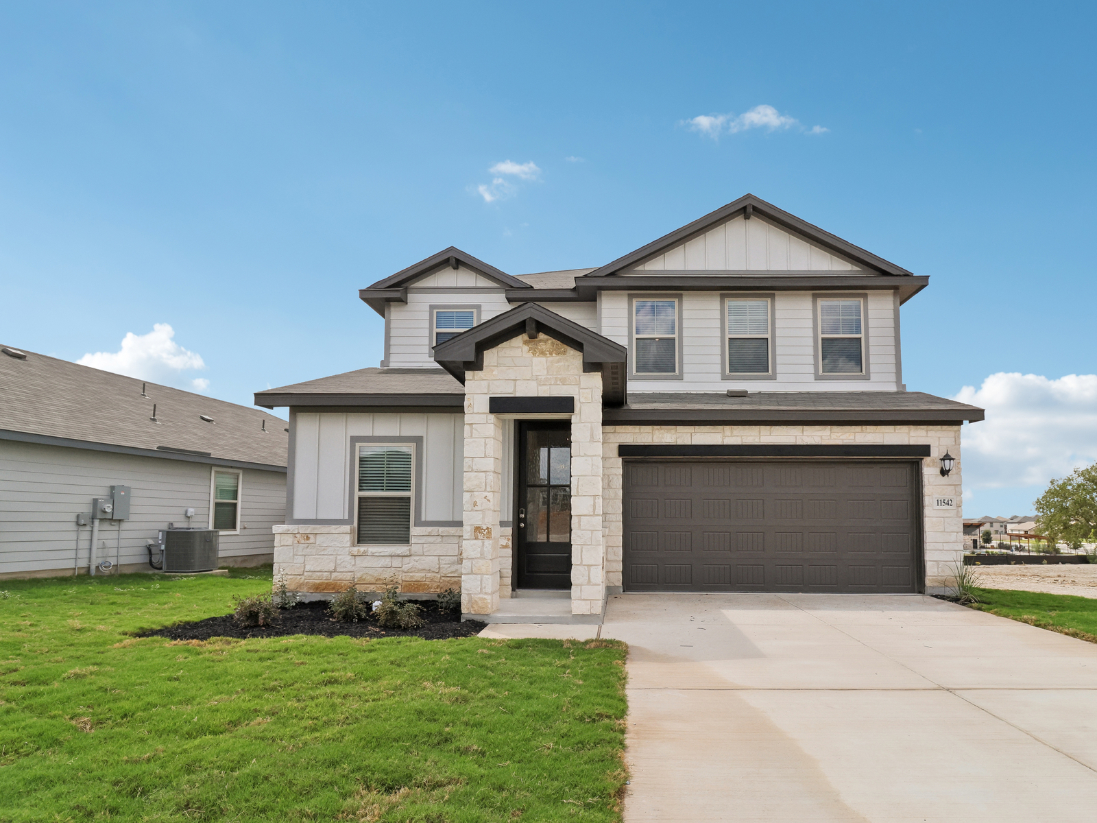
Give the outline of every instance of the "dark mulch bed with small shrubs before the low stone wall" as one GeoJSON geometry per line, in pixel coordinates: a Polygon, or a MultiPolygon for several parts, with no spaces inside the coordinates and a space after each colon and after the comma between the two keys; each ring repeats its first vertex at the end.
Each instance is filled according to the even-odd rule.
{"type": "Polygon", "coordinates": [[[293,609],[282,609],[281,620],[271,627],[242,627],[231,615],[177,623],[163,629],[142,632],[140,638],[168,638],[170,640],[210,640],[211,638],[285,638],[291,634],[320,634],[325,638],[422,638],[448,640],[470,638],[483,631],[487,623],[479,620],[461,621],[461,615],[439,611],[430,601],[422,604],[419,617],[423,624],[418,629],[383,629],[374,620],[340,623],[328,617],[326,600],[298,604],[293,609]]]}

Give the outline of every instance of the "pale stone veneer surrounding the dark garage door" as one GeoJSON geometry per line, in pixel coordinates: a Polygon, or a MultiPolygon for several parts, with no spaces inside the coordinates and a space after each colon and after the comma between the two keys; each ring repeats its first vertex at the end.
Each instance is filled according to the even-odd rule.
{"type": "Polygon", "coordinates": [[[621,586],[622,476],[618,443],[928,443],[930,456],[923,460],[926,591],[946,594],[955,585],[954,570],[963,563],[963,514],[960,506],[954,512],[935,511],[932,498],[949,495],[961,499],[959,426],[604,426],[602,440],[606,466],[602,506],[609,586],[621,586]],[[942,477],[939,458],[946,451],[957,459],[957,463],[949,476],[942,477]]]}

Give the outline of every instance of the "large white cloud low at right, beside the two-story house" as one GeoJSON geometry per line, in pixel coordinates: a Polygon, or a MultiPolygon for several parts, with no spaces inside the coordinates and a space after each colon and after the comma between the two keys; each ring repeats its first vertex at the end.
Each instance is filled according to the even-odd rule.
{"type": "Polygon", "coordinates": [[[1045,485],[1097,461],[1097,374],[999,372],[953,399],[986,409],[961,430],[965,487],[1045,485]]]}

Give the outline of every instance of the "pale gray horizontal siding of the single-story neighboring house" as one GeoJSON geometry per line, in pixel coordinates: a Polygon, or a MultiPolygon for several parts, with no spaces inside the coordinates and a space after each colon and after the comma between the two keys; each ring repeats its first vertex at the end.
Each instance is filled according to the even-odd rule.
{"type": "MultiPolygon", "coordinates": [[[[131,517],[121,521],[123,571],[148,566],[146,542],[169,522],[210,521],[213,466],[39,443],[0,441],[0,577],[54,570],[71,573],[79,531],[79,568],[87,573],[91,528],[76,526],[92,497],[114,484],[133,487],[131,517]]],[[[285,522],[285,474],[242,470],[239,534],[222,534],[222,565],[251,565],[274,552],[271,527],[285,522]]],[[[118,521],[100,522],[99,557],[114,562],[118,521]]]]}

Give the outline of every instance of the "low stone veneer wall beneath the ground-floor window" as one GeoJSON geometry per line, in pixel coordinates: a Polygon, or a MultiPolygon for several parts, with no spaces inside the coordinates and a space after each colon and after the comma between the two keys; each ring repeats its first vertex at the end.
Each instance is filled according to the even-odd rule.
{"type": "Polygon", "coordinates": [[[461,529],[412,527],[410,545],[355,545],[353,526],[275,526],[274,578],[291,591],[461,589],[461,529]]]}

